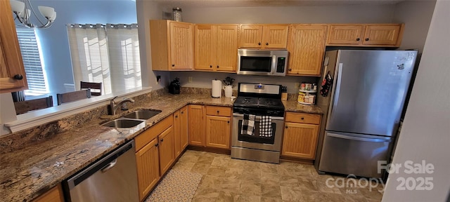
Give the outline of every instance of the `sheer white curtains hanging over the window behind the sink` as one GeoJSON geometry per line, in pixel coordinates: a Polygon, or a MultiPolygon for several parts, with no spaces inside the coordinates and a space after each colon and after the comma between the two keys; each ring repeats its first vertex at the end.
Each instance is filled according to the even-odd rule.
{"type": "Polygon", "coordinates": [[[108,94],[142,86],[137,25],[68,25],[76,89],[102,82],[108,94]]]}

